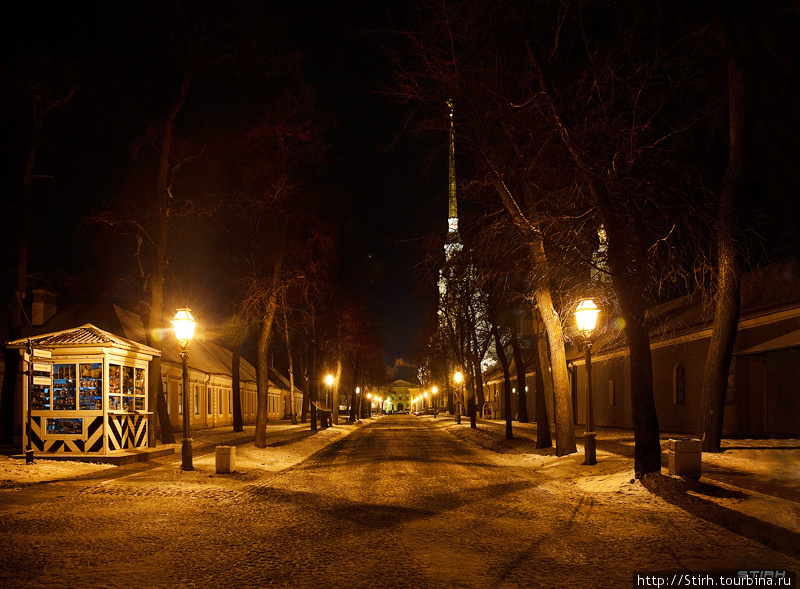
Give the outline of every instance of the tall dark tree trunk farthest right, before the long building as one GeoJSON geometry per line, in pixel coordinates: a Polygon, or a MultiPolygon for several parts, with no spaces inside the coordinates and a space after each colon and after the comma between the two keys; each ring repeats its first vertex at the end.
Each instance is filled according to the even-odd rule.
{"type": "Polygon", "coordinates": [[[720,17],[716,28],[725,51],[728,73],[728,163],[722,180],[717,211],[718,286],[714,326],[703,373],[700,396],[700,427],[704,452],[720,452],[725,394],[728,388],[733,346],[739,326],[741,263],[736,248],[736,213],[744,193],[744,71],[736,51],[728,42],[720,17]]]}

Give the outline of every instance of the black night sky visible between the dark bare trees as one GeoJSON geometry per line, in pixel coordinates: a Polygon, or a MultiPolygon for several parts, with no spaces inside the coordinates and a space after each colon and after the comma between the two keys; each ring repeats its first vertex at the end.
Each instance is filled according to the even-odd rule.
{"type": "MultiPolygon", "coordinates": [[[[94,284],[86,277],[94,270],[102,274],[98,265],[120,262],[108,254],[96,255],[96,228],[84,220],[126,189],[135,173],[131,145],[148,123],[166,115],[174,99],[174,72],[160,64],[164,48],[130,18],[160,5],[5,5],[6,18],[0,25],[0,246],[7,254],[2,258],[2,292],[11,292],[13,283],[16,200],[31,125],[23,81],[30,77],[31,57],[48,55],[58,64],[68,64],[70,70],[65,79],[53,75],[48,81],[63,92],[77,80],[78,90],[67,105],[49,116],[37,159],[29,261],[32,284],[51,283],[62,289],[62,295],[71,292],[79,302],[96,302],[107,294],[108,285],[94,284]]],[[[414,336],[435,297],[430,277],[427,290],[422,291],[427,302],[420,297],[419,285],[424,281],[420,266],[425,246],[430,244],[425,240],[444,238],[447,216],[446,121],[442,121],[441,137],[430,134],[425,143],[405,130],[408,113],[404,107],[381,92],[391,81],[384,45],[393,31],[413,23],[411,4],[265,2],[257,6],[282,23],[283,42],[302,51],[306,80],[314,86],[321,109],[336,121],[327,135],[331,162],[319,176],[332,201],[327,209],[330,221],[346,227],[341,253],[349,288],[364,294],[383,326],[386,363],[392,365],[396,358],[410,360],[414,336]]],[[[778,40],[784,43],[786,39],[778,40]]],[[[798,53],[795,39],[769,54],[778,55],[779,60],[754,61],[758,100],[748,105],[756,121],[751,130],[756,169],[749,171],[758,182],[753,190],[759,201],[755,224],[760,243],[774,259],[800,254],[796,230],[800,110],[796,108],[797,77],[785,73],[796,72],[798,53]]],[[[236,83],[219,82],[206,79],[191,89],[178,134],[202,139],[204,133],[224,124],[235,127],[240,122],[235,109],[219,108],[239,98],[236,83]]],[[[223,321],[225,314],[224,297],[218,297],[210,285],[214,281],[206,277],[209,291],[204,298],[196,291],[187,295],[187,303],[192,301],[190,306],[209,322],[223,321]]]]}

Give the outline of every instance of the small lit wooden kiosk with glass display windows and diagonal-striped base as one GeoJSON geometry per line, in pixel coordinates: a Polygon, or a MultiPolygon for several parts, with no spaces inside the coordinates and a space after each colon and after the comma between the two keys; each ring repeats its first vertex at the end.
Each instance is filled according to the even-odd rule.
{"type": "Polygon", "coordinates": [[[23,448],[109,455],[147,447],[148,365],[161,353],[91,324],[9,342],[23,356],[23,448]]]}

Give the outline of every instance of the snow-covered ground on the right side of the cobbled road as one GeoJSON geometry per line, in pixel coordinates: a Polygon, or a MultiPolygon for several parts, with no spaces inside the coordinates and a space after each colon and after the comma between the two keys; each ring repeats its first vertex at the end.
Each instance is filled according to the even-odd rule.
{"type": "MultiPolygon", "coordinates": [[[[780,496],[781,489],[796,489],[800,484],[800,440],[797,439],[729,439],[723,441],[724,452],[703,454],[704,469],[710,471],[711,467],[716,467],[736,474],[739,480],[759,479],[765,491],[759,492],[722,482],[724,477],[715,477],[711,472],[700,481],[687,481],[669,476],[667,468],[662,468],[662,476],[649,476],[643,484],[634,479],[633,433],[626,430],[600,430],[597,464],[585,466],[580,443],[577,453],[562,457],[555,456],[553,448],[536,449],[536,431],[532,424],[514,423],[513,440],[505,439],[504,422],[480,422],[477,429],[472,429],[467,419],[462,420],[462,425],[443,419],[439,425],[460,439],[497,452],[503,464],[546,475],[549,480],[541,487],[551,488],[553,492],[580,490],[621,500],[637,495],[642,501],[677,498],[680,502],[695,501],[701,505],[713,503],[800,533],[800,502],[780,496]],[[602,450],[604,443],[610,443],[617,451],[602,450]],[[773,490],[776,492],[772,493],[773,490]]],[[[669,438],[685,436],[662,434],[661,437],[662,450],[666,451],[669,438]]]]}

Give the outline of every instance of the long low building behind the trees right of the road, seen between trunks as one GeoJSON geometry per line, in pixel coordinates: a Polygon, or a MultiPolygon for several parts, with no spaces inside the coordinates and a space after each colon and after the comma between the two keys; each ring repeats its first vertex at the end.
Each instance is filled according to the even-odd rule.
{"type": "MultiPolygon", "coordinates": [[[[686,296],[650,309],[653,389],[662,431],[696,433],[699,426],[703,371],[713,327],[713,303],[686,296]]],[[[592,409],[599,427],[632,428],[630,355],[624,331],[611,318],[592,348],[592,409]]],[[[583,354],[567,350],[574,421],[586,423],[586,371],[583,354]]],[[[526,354],[525,393],[528,414],[535,412],[535,363],[526,354]],[[531,360],[530,364],[527,363],[531,360]]],[[[512,406],[516,417],[520,391],[512,366],[512,406]]],[[[485,374],[487,400],[496,416],[505,415],[503,377],[485,374]]],[[[545,391],[553,416],[553,399],[545,391]]],[[[726,436],[800,435],[800,268],[779,264],[747,274],[728,377],[723,434],[726,436]]]]}

